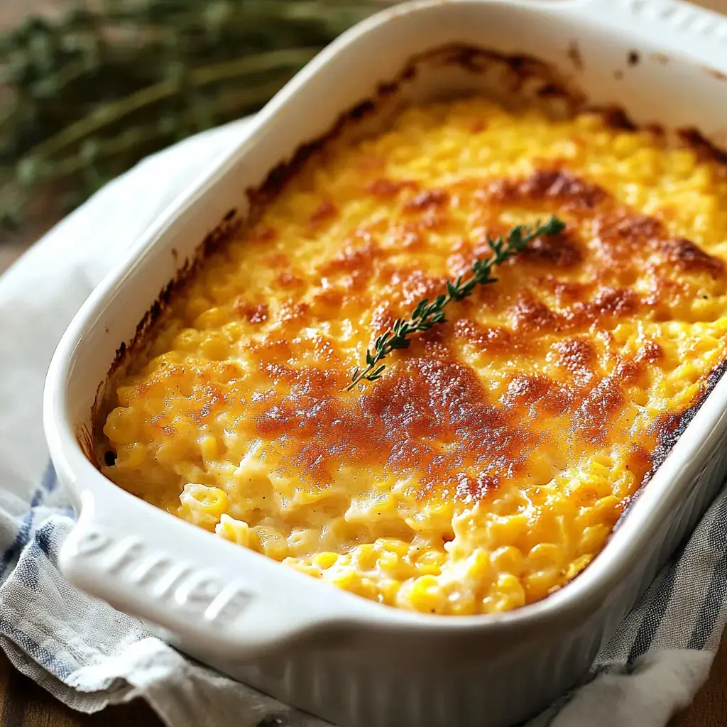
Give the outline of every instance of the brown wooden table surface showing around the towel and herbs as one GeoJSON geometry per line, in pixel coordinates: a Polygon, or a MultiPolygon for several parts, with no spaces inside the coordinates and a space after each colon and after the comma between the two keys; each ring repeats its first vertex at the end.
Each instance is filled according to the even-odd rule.
{"type": "MultiPolygon", "coordinates": [[[[68,0],[0,0],[0,29],[14,23],[23,12],[46,9],[68,0]]],[[[699,4],[727,13],[727,0],[699,0],[699,4]]],[[[0,273],[28,244],[47,230],[52,221],[38,220],[23,236],[2,240],[0,273]]],[[[161,727],[150,707],[137,700],[84,715],[65,707],[31,679],[20,674],[0,650],[0,727],[161,727]]],[[[707,683],[694,704],[675,715],[670,727],[727,726],[727,638],[715,657],[707,683]]],[[[374,727],[374,726],[372,726],[374,727]]],[[[614,726],[618,727],[618,726],[614,726]]]]}

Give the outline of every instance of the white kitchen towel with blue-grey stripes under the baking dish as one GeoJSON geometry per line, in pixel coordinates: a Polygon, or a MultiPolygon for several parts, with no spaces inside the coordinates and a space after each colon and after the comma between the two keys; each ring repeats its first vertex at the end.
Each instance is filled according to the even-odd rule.
{"type": "MultiPolygon", "coordinates": [[[[57,569],[74,515],[41,427],[53,350],[150,220],[244,134],[240,121],[149,158],[0,278],[0,643],[20,671],[84,712],[142,697],[173,727],[324,724],[190,661],[137,619],[68,585],[57,569]]],[[[690,702],[727,614],[725,523],[723,493],[583,683],[531,726],[657,727],[690,702]]]]}

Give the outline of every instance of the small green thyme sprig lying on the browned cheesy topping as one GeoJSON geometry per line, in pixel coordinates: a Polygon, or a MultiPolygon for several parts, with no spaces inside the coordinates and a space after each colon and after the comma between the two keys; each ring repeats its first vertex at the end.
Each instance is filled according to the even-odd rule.
{"type": "Polygon", "coordinates": [[[353,372],[351,382],[345,390],[352,390],[364,379],[366,381],[379,379],[386,366],[381,364],[382,359],[398,348],[409,348],[410,337],[415,333],[428,331],[439,323],[446,323],[444,308],[449,303],[464,300],[472,294],[475,286],[497,283],[497,278],[491,274],[495,265],[502,265],[506,260],[515,257],[518,252],[523,252],[528,243],[535,238],[542,235],[557,235],[565,227],[565,223],[558,217],[550,217],[550,220],[543,225],[539,222],[534,226],[517,225],[507,233],[507,238],[503,238],[502,235],[491,238],[488,235],[487,244],[492,251],[491,257],[473,262],[471,278],[463,280],[463,276],[459,276],[454,282],[447,281],[447,292],[438,295],[432,302],[428,298],[420,300],[411,312],[411,318],[397,318],[388,331],[377,337],[373,350],[366,349],[366,366],[364,369],[357,368],[353,372]]]}

